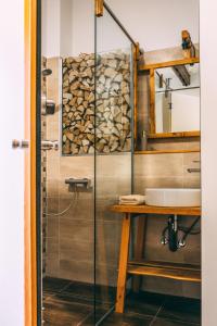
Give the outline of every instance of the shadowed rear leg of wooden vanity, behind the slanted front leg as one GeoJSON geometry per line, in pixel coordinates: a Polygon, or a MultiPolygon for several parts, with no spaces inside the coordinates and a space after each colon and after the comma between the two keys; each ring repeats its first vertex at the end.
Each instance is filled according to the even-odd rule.
{"type": "MultiPolygon", "coordinates": [[[[139,261],[143,259],[144,254],[144,240],[145,240],[145,226],[146,226],[146,215],[139,216],[137,222],[137,240],[135,248],[135,260],[139,261]]],[[[132,281],[133,292],[139,292],[141,288],[142,277],[135,276],[132,281]]]]}

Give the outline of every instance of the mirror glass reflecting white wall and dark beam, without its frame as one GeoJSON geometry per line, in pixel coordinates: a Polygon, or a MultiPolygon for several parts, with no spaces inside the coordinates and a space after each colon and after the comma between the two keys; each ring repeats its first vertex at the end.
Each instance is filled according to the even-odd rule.
{"type": "Polygon", "coordinates": [[[200,64],[155,70],[156,133],[200,130],[200,64]]]}

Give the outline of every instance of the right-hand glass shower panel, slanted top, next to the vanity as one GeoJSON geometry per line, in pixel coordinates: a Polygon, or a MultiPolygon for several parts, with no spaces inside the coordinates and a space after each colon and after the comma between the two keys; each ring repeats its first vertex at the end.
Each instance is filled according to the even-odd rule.
{"type": "Polygon", "coordinates": [[[95,323],[114,309],[122,218],[132,191],[132,45],[111,12],[95,18],[95,323]]]}

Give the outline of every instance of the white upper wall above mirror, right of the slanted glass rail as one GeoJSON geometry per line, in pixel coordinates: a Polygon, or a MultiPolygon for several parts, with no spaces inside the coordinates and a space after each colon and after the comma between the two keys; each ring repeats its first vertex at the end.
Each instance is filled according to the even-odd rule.
{"type": "Polygon", "coordinates": [[[106,0],[144,51],[181,45],[181,30],[199,41],[199,0],[106,0]],[[135,24],[135,22],[137,22],[135,24]]]}

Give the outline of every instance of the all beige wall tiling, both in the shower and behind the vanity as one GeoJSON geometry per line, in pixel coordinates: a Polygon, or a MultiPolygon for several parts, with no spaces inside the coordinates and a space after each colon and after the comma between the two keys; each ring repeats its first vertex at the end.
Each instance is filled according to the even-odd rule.
{"type": "MultiPolygon", "coordinates": [[[[56,103],[54,115],[47,116],[47,139],[61,137],[60,59],[48,59],[53,71],[47,78],[48,98],[56,103]]],[[[148,117],[148,86],[145,77],[140,80],[140,117],[148,117]],[[146,92],[145,92],[146,91],[146,92]],[[146,106],[145,106],[146,105],[146,106]]],[[[143,120],[145,123],[145,118],[143,120]]],[[[143,128],[143,126],[142,126],[143,128]]],[[[162,143],[164,147],[165,143],[162,143]]],[[[169,146],[176,146],[169,145],[169,146]]],[[[184,146],[189,146],[188,142],[184,146]]],[[[199,147],[199,141],[192,143],[199,147]]],[[[157,143],[161,148],[161,143],[157,143]]],[[[47,159],[47,211],[58,213],[68,206],[72,193],[65,185],[66,177],[90,177],[93,183],[93,156],[61,156],[61,151],[48,152],[47,159]]],[[[193,161],[199,153],[150,154],[135,156],[136,192],[143,193],[146,187],[200,187],[200,174],[189,175],[187,167],[197,167],[193,161]],[[195,166],[194,166],[195,165],[195,166]]],[[[130,155],[100,155],[97,159],[97,216],[98,216],[98,280],[116,284],[120,240],[120,216],[110,212],[108,206],[119,195],[130,192],[130,155]],[[113,175],[111,176],[111,168],[113,175]]],[[[62,216],[48,216],[47,268],[49,276],[93,281],[93,191],[82,192],[77,203],[62,216]]],[[[181,218],[184,225],[192,222],[181,218]]],[[[150,260],[200,263],[200,236],[190,236],[187,247],[171,253],[161,244],[161,235],[166,217],[150,216],[146,229],[145,258],[150,260]]],[[[143,288],[156,292],[200,297],[200,286],[188,283],[144,278],[143,288]]]]}

